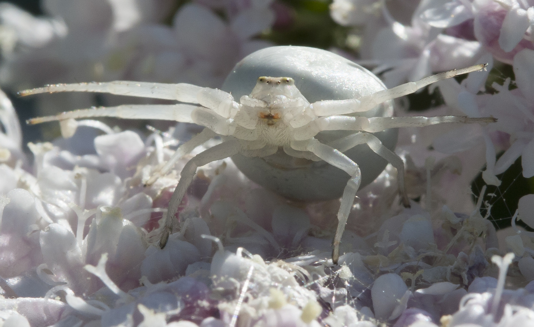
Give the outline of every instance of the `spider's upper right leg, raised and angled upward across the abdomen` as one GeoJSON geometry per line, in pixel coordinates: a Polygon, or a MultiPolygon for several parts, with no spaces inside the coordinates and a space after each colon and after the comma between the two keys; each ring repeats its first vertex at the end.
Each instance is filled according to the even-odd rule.
{"type": "Polygon", "coordinates": [[[317,116],[343,115],[355,112],[365,112],[388,100],[399,98],[426,87],[437,81],[450,79],[451,77],[467,74],[485,69],[486,65],[476,65],[462,69],[454,69],[444,73],[425,77],[417,82],[408,82],[392,89],[382,90],[357,99],[347,100],[324,100],[311,104],[313,112],[317,116]]]}

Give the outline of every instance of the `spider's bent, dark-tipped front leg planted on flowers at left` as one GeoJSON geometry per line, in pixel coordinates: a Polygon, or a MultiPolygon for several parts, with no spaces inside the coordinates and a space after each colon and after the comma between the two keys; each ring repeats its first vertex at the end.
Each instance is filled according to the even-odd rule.
{"type": "Polygon", "coordinates": [[[221,144],[210,147],[209,149],[195,155],[195,157],[193,157],[191,160],[187,161],[187,164],[185,164],[184,169],[182,169],[182,172],[180,173],[180,180],[178,181],[178,185],[176,185],[174,193],[172,193],[169,207],[167,209],[167,213],[165,214],[165,222],[160,238],[161,248],[167,244],[169,235],[172,232],[172,220],[176,212],[178,212],[178,207],[180,206],[180,203],[182,203],[182,199],[184,198],[187,188],[193,181],[193,177],[197,172],[197,168],[209,164],[211,161],[221,160],[230,157],[231,155],[238,154],[240,150],[241,147],[239,145],[239,141],[230,139],[229,141],[225,141],[221,144]]]}

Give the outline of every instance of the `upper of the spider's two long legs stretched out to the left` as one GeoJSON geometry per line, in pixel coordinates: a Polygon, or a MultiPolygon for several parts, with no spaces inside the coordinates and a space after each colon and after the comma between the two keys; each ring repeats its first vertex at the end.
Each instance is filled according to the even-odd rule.
{"type": "Polygon", "coordinates": [[[90,82],[73,84],[52,84],[42,88],[19,91],[20,96],[55,92],[101,92],[131,97],[178,100],[199,103],[197,94],[205,88],[193,84],[151,83],[132,81],[90,82]]]}

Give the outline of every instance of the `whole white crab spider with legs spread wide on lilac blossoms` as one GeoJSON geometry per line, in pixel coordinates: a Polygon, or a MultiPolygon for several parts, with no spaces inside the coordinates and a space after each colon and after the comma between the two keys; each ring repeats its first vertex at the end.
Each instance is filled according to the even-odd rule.
{"type": "Polygon", "coordinates": [[[484,68],[485,65],[477,65],[458,69],[386,89],[365,68],[331,52],[302,46],[275,46],[241,60],[227,77],[224,91],[184,83],[114,81],[48,85],[21,91],[20,95],[85,91],[177,100],[179,103],[174,105],[100,107],[28,121],[59,120],[65,136],[74,134],[75,119],[95,116],[176,120],[206,127],[178,147],[147,184],[167,174],[180,157],[211,137],[223,139],[221,144],[197,154],[182,169],[161,228],[161,247],[167,243],[172,217],[197,168],[232,157],[245,175],[284,196],[302,200],[341,197],[332,252],[332,259],[337,262],[356,191],[360,185],[373,181],[387,162],[397,168],[400,198],[405,206],[410,205],[404,189],[404,163],[391,151],[396,143],[395,127],[495,121],[458,116],[392,117],[390,100],[439,80],[484,68]],[[234,97],[239,97],[239,103],[234,97]],[[287,158],[305,158],[315,163],[295,167],[287,164],[290,161],[287,158]]]}

